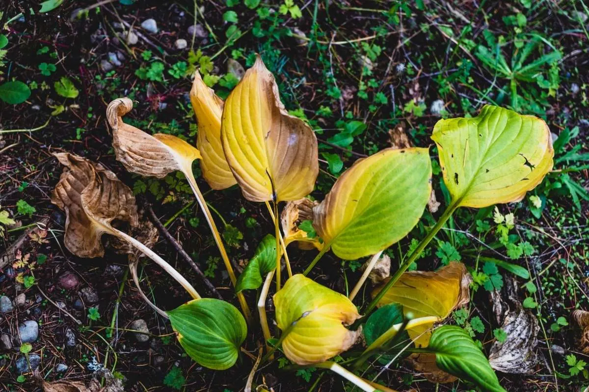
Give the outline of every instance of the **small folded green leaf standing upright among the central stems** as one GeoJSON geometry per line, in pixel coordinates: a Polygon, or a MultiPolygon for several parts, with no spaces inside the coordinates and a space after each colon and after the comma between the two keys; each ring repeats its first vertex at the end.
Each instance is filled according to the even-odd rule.
{"type": "Polygon", "coordinates": [[[276,238],[270,234],[262,239],[254,257],[237,278],[235,290],[252,290],[262,286],[266,274],[276,269],[276,238]]]}

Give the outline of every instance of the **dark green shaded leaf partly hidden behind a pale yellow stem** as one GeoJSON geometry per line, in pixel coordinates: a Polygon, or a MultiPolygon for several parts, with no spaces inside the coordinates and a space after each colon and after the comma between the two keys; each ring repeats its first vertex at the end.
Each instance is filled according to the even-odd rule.
{"type": "MultiPolygon", "coordinates": [[[[366,346],[370,346],[370,344],[374,343],[379,336],[385,333],[389,328],[391,328],[395,324],[400,324],[403,322],[403,306],[398,303],[390,303],[385,306],[379,307],[376,309],[374,313],[370,314],[368,320],[366,320],[366,324],[363,327],[364,337],[366,339],[366,346]]],[[[401,336],[397,335],[394,338],[395,340],[401,341],[408,341],[409,334],[406,330],[403,330],[401,336]]],[[[404,345],[403,345],[404,346],[404,345]]],[[[392,347],[391,349],[387,349],[387,347],[382,347],[383,350],[386,350],[386,354],[380,356],[378,361],[380,363],[386,364],[393,359],[398,353],[399,349],[402,347],[392,347]]],[[[409,354],[409,352],[407,352],[409,354]]]]}

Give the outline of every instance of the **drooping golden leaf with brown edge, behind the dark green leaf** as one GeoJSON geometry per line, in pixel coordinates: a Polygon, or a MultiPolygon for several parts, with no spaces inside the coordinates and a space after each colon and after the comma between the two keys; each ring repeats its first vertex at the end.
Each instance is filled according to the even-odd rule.
{"type": "MultiPolygon", "coordinates": [[[[389,279],[385,279],[383,284],[389,279]]],[[[405,316],[411,313],[416,319],[436,316],[443,320],[453,310],[468,303],[470,282],[471,276],[466,272],[466,267],[457,262],[452,262],[435,272],[406,272],[380,299],[378,306],[399,303],[403,306],[405,316]]],[[[381,287],[382,285],[376,287],[372,296],[376,296],[381,287]]],[[[428,345],[431,332],[426,331],[431,329],[432,325],[433,323],[423,324],[408,329],[409,336],[416,339],[416,346],[428,345]],[[418,337],[420,335],[421,337],[418,337]]]]}

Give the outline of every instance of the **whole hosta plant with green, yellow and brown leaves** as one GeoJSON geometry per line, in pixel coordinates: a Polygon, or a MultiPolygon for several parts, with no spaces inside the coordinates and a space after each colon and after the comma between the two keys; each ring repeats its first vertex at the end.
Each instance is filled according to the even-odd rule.
{"type": "MultiPolygon", "coordinates": [[[[554,155],[544,121],[497,106],[484,106],[475,118],[440,120],[432,139],[451,198],[449,206],[392,276],[372,290],[370,303],[358,307],[353,300],[380,254],[408,236],[421,219],[432,192],[430,150],[389,148],[360,159],[342,173],[321,202],[313,202],[305,197],[313,191],[318,172],[315,133],[286,112],[274,76],[261,58],[226,102],[204,85],[198,73],[190,98],[198,123],[196,148],[174,136],[150,135],[125,123],[124,116],[133,108],[128,98],[108,105],[113,146],[117,159],[130,172],[155,177],[176,170],[184,173],[209,223],[242,312],[229,302],[201,298],[150,247],[113,227],[114,220],[138,225],[133,194],[101,165],[61,153],[57,158],[67,169],[52,201],[67,214],[65,244],[72,253],[102,256],[100,237],[108,233],[170,273],[193,300],[168,311],[151,305],[170,319],[181,346],[202,366],[233,366],[246,341],[246,319],[250,330],[261,329],[266,354],[253,364],[248,389],[257,368],[283,353],[293,362],[291,368],[329,369],[365,391],[390,390],[354,373],[372,358],[384,363],[406,359],[435,382],[459,377],[482,391],[504,391],[469,334],[460,327],[442,325],[452,311],[469,302],[471,277],[464,264],[450,262],[435,272],[406,270],[459,207],[517,202],[542,181],[552,168],[554,155]],[[269,210],[274,236],[267,234],[260,240],[239,277],[193,176],[194,160],[200,161],[203,178],[212,189],[237,184],[247,200],[264,202],[269,210]],[[288,202],[282,216],[280,202],[288,202]],[[317,235],[300,229],[301,220],[312,221],[317,235]],[[292,272],[286,253],[291,242],[317,250],[302,273],[292,272]],[[330,251],[344,260],[370,256],[348,297],[307,277],[330,251]],[[284,285],[283,258],[288,274],[284,285]],[[270,331],[264,306],[274,277],[276,336],[270,331]],[[253,323],[244,296],[252,290],[260,290],[259,326],[253,323]],[[366,347],[342,354],[357,344],[360,334],[366,347]],[[330,361],[339,354],[345,356],[343,362],[330,361]]],[[[137,262],[131,262],[139,287],[136,269],[137,262]]]]}

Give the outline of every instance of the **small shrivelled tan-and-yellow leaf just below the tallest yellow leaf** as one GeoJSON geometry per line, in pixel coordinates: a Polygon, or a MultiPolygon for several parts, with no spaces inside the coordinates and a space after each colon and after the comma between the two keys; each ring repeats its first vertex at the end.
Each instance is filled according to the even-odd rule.
{"type": "Polygon", "coordinates": [[[323,249],[323,243],[319,242],[319,237],[310,238],[305,230],[299,229],[300,223],[304,220],[313,221],[313,207],[317,205],[319,202],[313,202],[306,197],[286,203],[282,215],[280,215],[286,246],[291,242],[298,241],[300,249],[323,249]]]}

